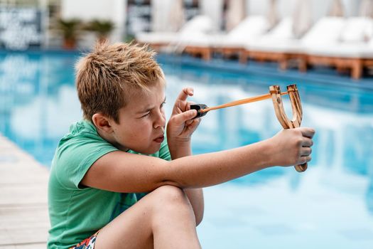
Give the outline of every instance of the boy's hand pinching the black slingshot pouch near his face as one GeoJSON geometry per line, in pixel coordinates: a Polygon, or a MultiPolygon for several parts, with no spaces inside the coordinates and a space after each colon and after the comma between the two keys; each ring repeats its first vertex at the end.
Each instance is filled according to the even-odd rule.
{"type": "Polygon", "coordinates": [[[190,138],[200,124],[200,118],[193,120],[196,110],[190,110],[188,96],[193,96],[193,88],[184,88],[173,105],[173,111],[167,124],[167,139],[170,142],[190,142],[190,138]]]}

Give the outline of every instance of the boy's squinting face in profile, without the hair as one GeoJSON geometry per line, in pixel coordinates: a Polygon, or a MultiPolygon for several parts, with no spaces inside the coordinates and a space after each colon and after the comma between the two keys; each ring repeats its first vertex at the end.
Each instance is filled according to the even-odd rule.
{"type": "Polygon", "coordinates": [[[149,90],[131,90],[129,102],[119,110],[119,124],[112,124],[119,149],[153,154],[161,148],[166,126],[164,84],[157,83],[149,90]]]}

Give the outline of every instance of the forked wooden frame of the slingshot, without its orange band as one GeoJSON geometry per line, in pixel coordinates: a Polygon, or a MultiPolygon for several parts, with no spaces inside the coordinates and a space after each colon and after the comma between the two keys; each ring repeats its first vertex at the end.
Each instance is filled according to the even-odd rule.
{"type": "MultiPolygon", "coordinates": [[[[269,87],[269,93],[272,96],[272,102],[274,102],[274,110],[276,112],[276,117],[281,123],[283,129],[291,129],[301,126],[302,122],[302,105],[301,99],[299,98],[298,88],[296,85],[287,86],[288,95],[290,97],[291,109],[293,110],[293,118],[291,120],[286,116],[286,112],[283,109],[281,90],[279,85],[271,85],[269,87]]],[[[307,169],[307,163],[299,164],[294,166],[296,171],[303,172],[307,169]]]]}

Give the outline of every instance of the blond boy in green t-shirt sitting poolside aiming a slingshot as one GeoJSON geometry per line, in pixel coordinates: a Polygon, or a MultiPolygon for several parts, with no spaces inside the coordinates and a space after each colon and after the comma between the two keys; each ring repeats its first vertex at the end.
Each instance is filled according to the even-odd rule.
{"type": "Polygon", "coordinates": [[[77,63],[84,120],[53,159],[48,248],[200,248],[200,188],[310,161],[314,130],[306,127],[192,156],[200,120],[187,102],[190,88],[175,102],[165,139],[165,78],[153,56],[133,44],[99,43],[77,63]]]}

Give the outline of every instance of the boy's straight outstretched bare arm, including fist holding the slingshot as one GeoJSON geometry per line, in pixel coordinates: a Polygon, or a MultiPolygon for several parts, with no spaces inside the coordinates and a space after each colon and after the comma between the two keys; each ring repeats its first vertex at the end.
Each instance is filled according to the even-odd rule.
{"type": "Polygon", "coordinates": [[[163,185],[183,189],[212,186],[269,166],[310,161],[314,133],[307,127],[284,129],[262,142],[173,161],[109,152],[92,164],[82,184],[127,193],[153,191],[163,185]]]}

